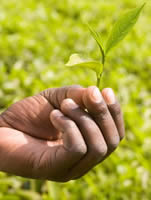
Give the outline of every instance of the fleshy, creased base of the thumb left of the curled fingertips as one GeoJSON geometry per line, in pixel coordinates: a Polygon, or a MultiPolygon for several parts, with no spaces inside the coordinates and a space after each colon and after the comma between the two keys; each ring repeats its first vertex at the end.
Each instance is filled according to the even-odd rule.
{"type": "Polygon", "coordinates": [[[52,105],[41,95],[26,98],[12,105],[3,113],[5,127],[22,131],[30,136],[57,140],[58,131],[50,122],[52,105]]]}

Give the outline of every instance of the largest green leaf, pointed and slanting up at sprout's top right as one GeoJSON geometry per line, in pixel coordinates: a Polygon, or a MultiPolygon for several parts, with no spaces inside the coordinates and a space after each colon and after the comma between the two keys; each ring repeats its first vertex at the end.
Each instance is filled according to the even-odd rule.
{"type": "Polygon", "coordinates": [[[123,40],[128,32],[133,28],[144,6],[145,3],[141,7],[128,11],[119,18],[108,37],[105,54],[107,54],[115,45],[123,40]]]}

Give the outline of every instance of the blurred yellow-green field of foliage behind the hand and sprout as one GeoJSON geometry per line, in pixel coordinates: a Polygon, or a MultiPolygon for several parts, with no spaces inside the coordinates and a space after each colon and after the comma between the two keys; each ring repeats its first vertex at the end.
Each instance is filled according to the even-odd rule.
{"type": "MultiPolygon", "coordinates": [[[[101,87],[120,99],[126,138],[90,173],[65,184],[0,173],[0,200],[151,199],[151,1],[108,56],[101,87]]],[[[70,54],[99,59],[84,21],[107,34],[142,0],[0,0],[0,111],[48,87],[95,84],[88,70],[66,69],[70,54]]]]}

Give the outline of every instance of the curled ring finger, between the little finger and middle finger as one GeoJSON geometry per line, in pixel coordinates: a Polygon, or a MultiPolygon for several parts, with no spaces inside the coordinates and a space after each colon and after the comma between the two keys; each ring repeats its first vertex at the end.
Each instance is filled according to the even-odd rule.
{"type": "Polygon", "coordinates": [[[94,120],[73,100],[64,100],[61,110],[77,124],[87,145],[87,154],[70,171],[70,177],[75,178],[84,175],[104,159],[107,154],[107,145],[94,120]]]}

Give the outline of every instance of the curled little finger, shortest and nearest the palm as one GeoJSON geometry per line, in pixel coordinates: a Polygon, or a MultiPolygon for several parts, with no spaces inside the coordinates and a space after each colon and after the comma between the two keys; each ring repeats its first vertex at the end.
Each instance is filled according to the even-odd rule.
{"type": "Polygon", "coordinates": [[[54,127],[63,133],[63,145],[56,148],[53,159],[54,176],[66,175],[86,154],[87,147],[77,125],[59,110],[50,115],[54,127]],[[61,174],[60,174],[61,172],[61,174]]]}

